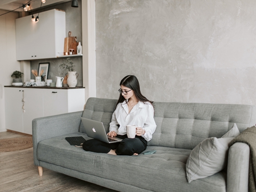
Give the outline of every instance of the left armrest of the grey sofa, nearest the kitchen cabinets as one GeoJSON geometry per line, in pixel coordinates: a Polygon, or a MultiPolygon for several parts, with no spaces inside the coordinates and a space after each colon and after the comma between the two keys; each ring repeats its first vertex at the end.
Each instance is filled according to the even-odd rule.
{"type": "Polygon", "coordinates": [[[78,111],[33,119],[32,134],[35,165],[39,166],[37,160],[38,143],[45,139],[79,132],[82,113],[83,111],[78,111]]]}

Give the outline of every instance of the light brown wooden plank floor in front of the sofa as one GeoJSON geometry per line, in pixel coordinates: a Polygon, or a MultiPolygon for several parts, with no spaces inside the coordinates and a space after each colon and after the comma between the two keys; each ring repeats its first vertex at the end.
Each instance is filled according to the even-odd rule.
{"type": "MultiPolygon", "coordinates": [[[[24,137],[12,132],[0,132],[0,139],[24,137]]],[[[0,153],[0,191],[107,191],[105,187],[82,181],[65,174],[44,169],[38,175],[33,162],[33,148],[0,153]]]]}

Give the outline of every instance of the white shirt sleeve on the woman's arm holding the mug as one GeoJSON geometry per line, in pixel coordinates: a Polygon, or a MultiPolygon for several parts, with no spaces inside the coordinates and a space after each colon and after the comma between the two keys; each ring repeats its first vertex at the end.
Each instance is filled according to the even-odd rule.
{"type": "Polygon", "coordinates": [[[156,122],[154,119],[154,108],[152,105],[148,105],[148,114],[146,118],[146,122],[144,123],[144,126],[142,127],[143,130],[145,130],[145,134],[141,135],[146,141],[150,141],[152,139],[153,133],[156,131],[156,122]]]}

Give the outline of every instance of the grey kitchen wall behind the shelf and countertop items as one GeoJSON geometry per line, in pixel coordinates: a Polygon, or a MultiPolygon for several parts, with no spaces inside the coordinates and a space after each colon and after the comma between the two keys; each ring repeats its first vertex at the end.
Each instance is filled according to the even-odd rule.
{"type": "MultiPolygon", "coordinates": [[[[82,0],[78,0],[79,7],[74,8],[71,7],[71,2],[62,3],[54,6],[47,7],[45,9],[40,10],[40,12],[48,11],[52,9],[60,9],[66,12],[66,36],[68,37],[68,31],[71,31],[71,36],[77,37],[77,42],[82,42],[82,0]]],[[[37,11],[38,12],[38,11],[37,11]]],[[[33,14],[37,12],[31,12],[33,14]]],[[[35,14],[37,15],[37,14],[35,14]]],[[[40,20],[39,20],[40,22],[40,20]]],[[[64,44],[64,39],[63,39],[64,44]]],[[[49,77],[48,79],[52,79],[53,82],[56,82],[55,76],[65,77],[65,75],[61,75],[62,69],[59,69],[59,65],[63,63],[63,59],[66,58],[54,58],[54,59],[41,59],[41,60],[33,60],[31,61],[31,69],[37,69],[39,67],[39,63],[41,62],[50,62],[49,68],[49,77]]],[[[70,58],[73,62],[75,70],[77,71],[78,78],[77,78],[77,86],[83,85],[83,68],[82,68],[82,57],[71,57],[70,58]]],[[[35,79],[34,75],[31,73],[31,78],[35,79]]]]}

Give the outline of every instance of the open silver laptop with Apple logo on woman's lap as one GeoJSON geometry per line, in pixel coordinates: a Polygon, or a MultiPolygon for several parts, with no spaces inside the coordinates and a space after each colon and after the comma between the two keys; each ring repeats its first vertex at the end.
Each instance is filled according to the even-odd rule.
{"type": "Polygon", "coordinates": [[[81,117],[81,119],[88,137],[93,139],[98,139],[106,143],[120,142],[123,140],[116,137],[113,137],[113,138],[109,137],[106,134],[106,131],[102,122],[94,121],[92,119],[87,119],[84,117],[81,117]]]}

